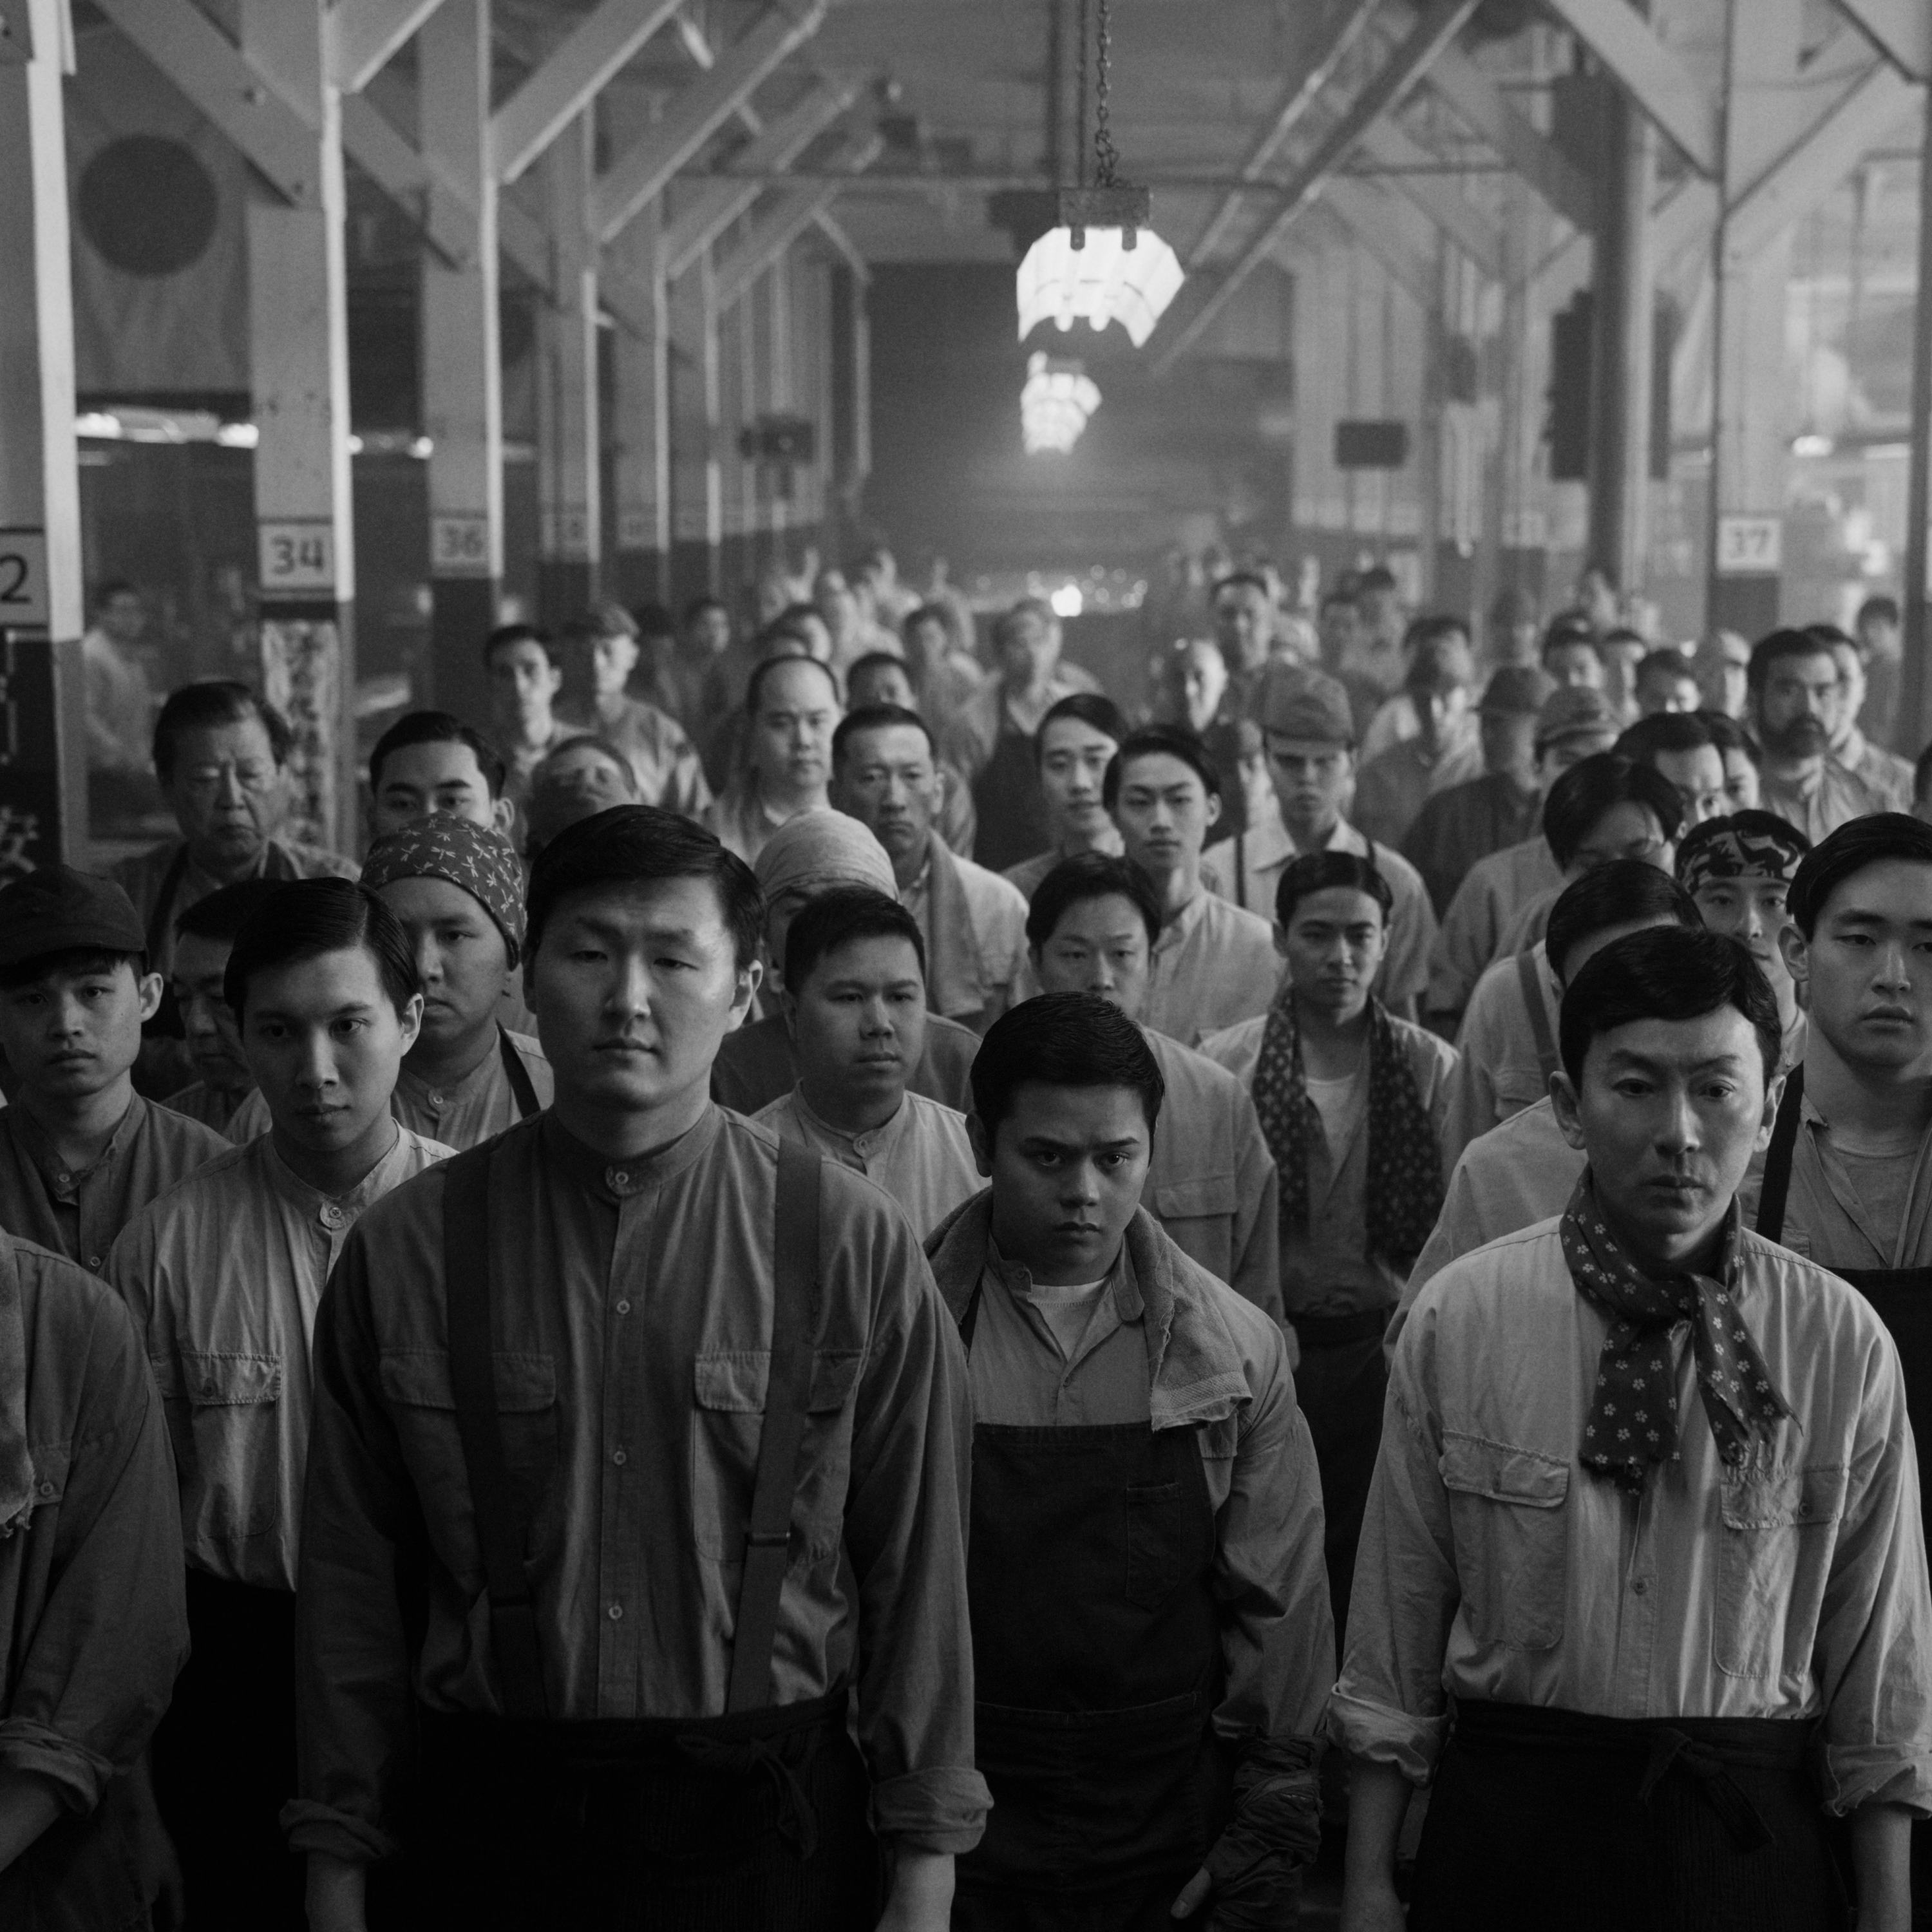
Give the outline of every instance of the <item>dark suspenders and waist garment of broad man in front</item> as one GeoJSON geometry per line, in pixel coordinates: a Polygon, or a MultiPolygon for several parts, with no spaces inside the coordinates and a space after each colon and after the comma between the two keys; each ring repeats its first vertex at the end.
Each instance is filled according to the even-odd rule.
{"type": "Polygon", "coordinates": [[[410,1851],[373,1924],[504,1932],[848,1932],[877,1911],[869,1783],[844,1683],[771,1702],[819,1316],[819,1159],[779,1148],[771,1374],[724,1714],[560,1719],[547,1704],[495,1389],[491,1148],[444,1165],[456,1430],[487,1578],[502,1718],[419,1708],[410,1851]]]}

